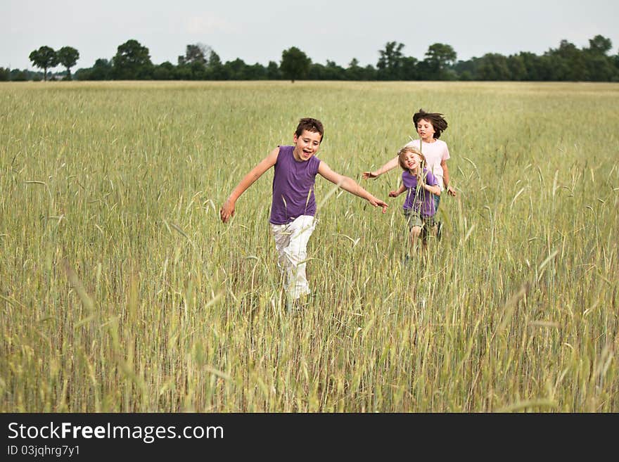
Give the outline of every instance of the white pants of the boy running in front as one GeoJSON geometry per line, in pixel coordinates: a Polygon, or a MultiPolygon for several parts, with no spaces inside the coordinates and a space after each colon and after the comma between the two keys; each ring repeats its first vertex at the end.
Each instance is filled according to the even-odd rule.
{"type": "Polygon", "coordinates": [[[277,266],[284,276],[284,288],[292,300],[312,292],[305,277],[305,259],[307,242],[315,227],[316,220],[310,215],[301,215],[288,224],[271,224],[278,255],[277,266]]]}

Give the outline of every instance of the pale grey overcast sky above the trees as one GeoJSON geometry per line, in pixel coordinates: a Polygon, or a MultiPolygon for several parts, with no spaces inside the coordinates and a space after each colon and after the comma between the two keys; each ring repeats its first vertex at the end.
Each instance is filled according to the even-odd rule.
{"type": "MultiPolygon", "coordinates": [[[[177,64],[187,44],[203,43],[222,61],[279,63],[297,46],[314,63],[352,58],[376,66],[388,41],[423,59],[451,45],[458,59],[485,53],[542,54],[567,39],[579,48],[596,34],[619,48],[619,0],[0,0],[0,67],[33,69],[39,46],[79,51],[73,71],[136,39],[155,64],[177,64]]],[[[58,68],[60,70],[60,68],[58,68]]]]}

